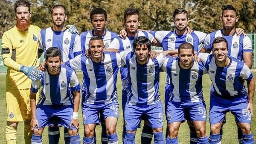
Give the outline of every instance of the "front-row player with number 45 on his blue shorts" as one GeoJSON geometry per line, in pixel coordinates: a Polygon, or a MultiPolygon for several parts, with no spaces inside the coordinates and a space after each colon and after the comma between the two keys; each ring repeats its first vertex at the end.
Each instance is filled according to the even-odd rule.
{"type": "Polygon", "coordinates": [[[99,113],[102,111],[106,121],[108,144],[118,144],[116,124],[119,115],[116,79],[121,57],[119,54],[103,52],[104,44],[101,37],[93,36],[89,41],[88,52],[91,59],[85,54],[76,56],[66,65],[76,70],[82,70],[85,83],[82,90],[82,112],[84,124],[84,144],[94,144],[96,124],[100,124],[99,113]]]}

